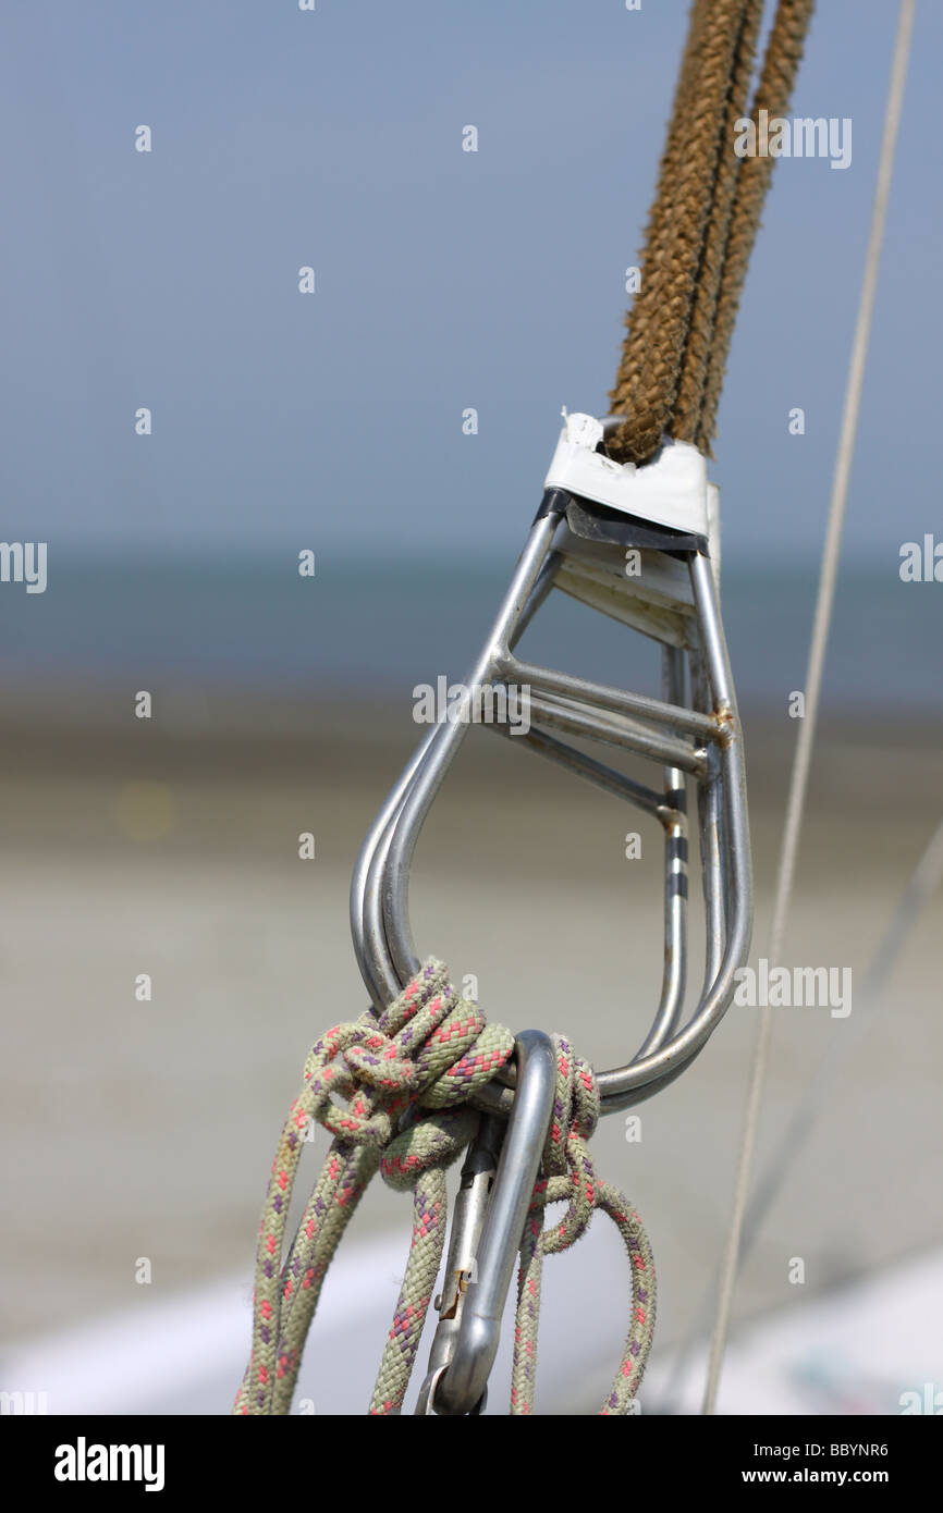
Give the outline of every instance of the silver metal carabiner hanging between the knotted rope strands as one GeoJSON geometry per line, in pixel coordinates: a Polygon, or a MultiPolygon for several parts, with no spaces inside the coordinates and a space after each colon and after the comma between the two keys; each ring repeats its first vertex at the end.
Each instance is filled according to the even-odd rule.
{"type": "Polygon", "coordinates": [[[501,1315],[554,1106],[554,1047],[543,1030],[516,1036],[518,1083],[504,1121],[483,1115],[462,1167],[439,1325],[418,1415],[480,1413],[498,1353],[501,1315]]]}

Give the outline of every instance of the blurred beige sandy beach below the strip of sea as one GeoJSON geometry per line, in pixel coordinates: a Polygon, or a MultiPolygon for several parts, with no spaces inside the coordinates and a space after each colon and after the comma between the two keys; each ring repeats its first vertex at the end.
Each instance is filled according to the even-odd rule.
{"type": "MultiPolygon", "coordinates": [[[[763,953],[790,722],[745,714],[763,953]]],[[[12,704],[3,749],[2,958],[6,1223],[3,1341],[135,1306],[139,1257],[165,1297],[251,1268],[257,1206],[310,1041],[357,1015],[348,937],[356,850],[415,740],[401,710],[331,702],[177,708],[141,729],[109,694],[12,704]],[[50,714],[50,710],[54,713],[50,714]],[[62,713],[65,710],[65,714],[62,713]],[[70,714],[71,710],[71,714],[70,714]],[[68,717],[67,717],[68,716],[68,717]],[[316,856],[298,859],[312,831],[316,856]],[[148,973],[150,1002],[135,982],[148,973]]],[[[789,956],[869,956],[938,803],[938,737],[822,728],[789,956]]],[[[424,834],[418,946],[474,973],[489,1017],[566,1029],[596,1067],[640,1042],[660,982],[660,837],[612,799],[472,732],[424,834]],[[533,1014],[528,1011],[533,1005],[533,1014]]],[[[783,1009],[760,1151],[834,1036],[848,1036],[816,1129],[742,1278],[737,1318],[917,1253],[940,1236],[943,1027],[937,899],[881,1012],[783,1009]]],[[[699,926],[695,921],[695,967],[699,926]]],[[[599,1170],[643,1213],[660,1277],[658,1345],[684,1336],[717,1263],[755,1011],[731,1008],[696,1064],[598,1132],[599,1170]]],[[[318,1147],[321,1148],[321,1147],[318,1147]]],[[[313,1165],[309,1168],[313,1174],[313,1165]]],[[[377,1188],[353,1233],[398,1229],[377,1188]]]]}

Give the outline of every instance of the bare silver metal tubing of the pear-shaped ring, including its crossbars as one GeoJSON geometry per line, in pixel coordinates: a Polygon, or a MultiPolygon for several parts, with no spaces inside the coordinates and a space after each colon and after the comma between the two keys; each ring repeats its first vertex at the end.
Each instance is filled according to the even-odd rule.
{"type": "MultiPolygon", "coordinates": [[[[436,726],[425,737],[371,828],[354,871],[351,921],[363,979],[377,1008],[383,1008],[401,991],[419,964],[409,923],[409,873],[424,819],[468,734],[468,702],[475,688],[498,676],[504,679],[509,673],[519,675],[524,681],[539,679],[549,702],[534,701],[536,713],[548,723],[634,750],[636,737],[643,731],[651,744],[646,755],[660,758],[664,764],[664,796],[634,784],[542,729],[531,728],[515,737],[521,744],[655,814],[666,831],[666,967],[661,999],[652,1027],[636,1056],[624,1067],[599,1074],[602,1109],[612,1112],[651,1097],[690,1064],[722,1018],[733,997],[734,973],[746,959],[752,879],[743,744],[714,576],[708,558],[701,552],[690,552],[687,558],[698,623],[696,645],[690,648],[692,708],[683,705],[684,654],[675,648],[666,646],[664,651],[663,701],[624,694],[604,684],[533,667],[512,655],[509,648],[516,643],[524,623],[552,587],[559,558],[551,554],[551,545],[559,513],[559,508],[546,510],[531,527],[490,635],[466,679],[457,717],[436,726]],[[630,713],[657,722],[666,734],[627,720],[630,713]],[[687,740],[678,740],[668,731],[681,732],[687,740]],[[702,740],[702,749],[689,744],[692,737],[702,740]],[[684,772],[698,782],[707,949],[699,1002],[687,1023],[681,1024],[687,912],[683,882],[684,772]]],[[[513,1079],[506,1076],[504,1080],[513,1079]]],[[[480,1106],[495,1111],[506,1111],[512,1101],[507,1086],[496,1085],[489,1085],[477,1098],[480,1106]]]]}

